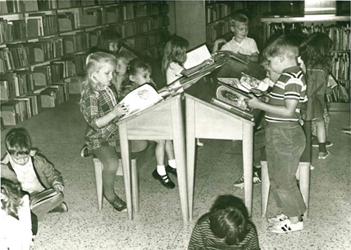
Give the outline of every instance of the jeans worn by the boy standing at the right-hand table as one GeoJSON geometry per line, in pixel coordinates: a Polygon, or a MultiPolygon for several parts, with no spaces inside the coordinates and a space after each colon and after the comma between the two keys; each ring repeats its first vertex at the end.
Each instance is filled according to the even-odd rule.
{"type": "Polygon", "coordinates": [[[287,217],[304,214],[306,205],[295,173],[306,146],[299,123],[267,123],[266,153],[271,190],[279,208],[287,217]]]}

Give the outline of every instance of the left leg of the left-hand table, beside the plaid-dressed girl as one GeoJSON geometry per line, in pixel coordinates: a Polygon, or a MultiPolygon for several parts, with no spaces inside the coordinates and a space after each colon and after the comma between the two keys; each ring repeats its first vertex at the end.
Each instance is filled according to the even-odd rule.
{"type": "Polygon", "coordinates": [[[121,146],[121,158],[123,167],[124,189],[126,189],[128,219],[133,219],[132,186],[130,177],[130,147],[126,123],[119,125],[119,143],[121,146]]]}

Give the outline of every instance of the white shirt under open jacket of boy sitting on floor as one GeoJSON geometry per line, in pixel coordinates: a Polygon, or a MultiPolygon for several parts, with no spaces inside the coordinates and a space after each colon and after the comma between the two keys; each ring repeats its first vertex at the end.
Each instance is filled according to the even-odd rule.
{"type": "Polygon", "coordinates": [[[12,157],[10,157],[10,164],[13,166],[17,179],[21,183],[24,191],[31,194],[33,192],[42,192],[44,190],[44,187],[40,184],[38,178],[36,177],[36,172],[34,171],[31,158],[29,158],[29,161],[26,164],[20,165],[13,162],[12,157]]]}

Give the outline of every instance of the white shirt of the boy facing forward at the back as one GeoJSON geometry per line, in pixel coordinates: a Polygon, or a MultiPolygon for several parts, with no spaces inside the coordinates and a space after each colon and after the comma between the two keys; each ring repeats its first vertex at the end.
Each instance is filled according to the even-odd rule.
{"type": "Polygon", "coordinates": [[[253,53],[260,53],[253,38],[244,38],[240,43],[232,38],[229,42],[221,47],[221,50],[230,50],[234,53],[240,53],[251,56],[253,53]]]}

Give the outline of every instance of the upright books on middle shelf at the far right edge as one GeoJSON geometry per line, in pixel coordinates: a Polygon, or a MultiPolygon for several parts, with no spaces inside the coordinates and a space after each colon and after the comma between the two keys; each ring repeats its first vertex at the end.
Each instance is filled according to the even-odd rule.
{"type": "Polygon", "coordinates": [[[350,80],[350,52],[334,52],[331,58],[331,73],[338,80],[350,80]]]}

